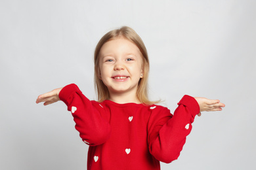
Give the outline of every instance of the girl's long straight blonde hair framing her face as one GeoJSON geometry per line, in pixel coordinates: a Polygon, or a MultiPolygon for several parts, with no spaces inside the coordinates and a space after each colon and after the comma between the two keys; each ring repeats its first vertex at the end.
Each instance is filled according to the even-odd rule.
{"type": "Polygon", "coordinates": [[[116,38],[124,38],[127,39],[139,48],[142,54],[142,73],[143,78],[140,78],[137,88],[137,98],[141,103],[145,105],[152,105],[153,103],[157,103],[150,101],[148,99],[148,72],[149,72],[149,60],[148,60],[148,52],[146,51],[146,46],[144,42],[139,37],[139,35],[131,28],[127,26],[123,26],[119,29],[114,29],[106,33],[98,42],[95,48],[95,89],[98,96],[98,102],[102,102],[106,99],[110,98],[110,93],[108,92],[108,88],[100,79],[100,61],[99,61],[99,53],[100,48],[104,43],[111,41],[116,38]]]}

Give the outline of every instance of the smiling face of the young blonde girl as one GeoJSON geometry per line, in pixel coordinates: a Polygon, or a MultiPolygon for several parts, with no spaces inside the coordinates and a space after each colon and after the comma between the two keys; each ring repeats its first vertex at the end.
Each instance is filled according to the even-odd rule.
{"type": "Polygon", "coordinates": [[[106,42],[99,53],[100,78],[110,92],[129,93],[136,96],[142,78],[142,54],[139,48],[124,38],[106,42]]]}

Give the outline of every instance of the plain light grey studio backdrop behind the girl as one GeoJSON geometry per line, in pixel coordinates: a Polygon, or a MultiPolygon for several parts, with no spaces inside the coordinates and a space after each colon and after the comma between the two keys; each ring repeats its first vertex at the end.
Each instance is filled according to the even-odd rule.
{"type": "Polygon", "coordinates": [[[256,1],[0,1],[0,169],[86,169],[66,105],[36,105],[75,83],[96,99],[93,51],[129,25],[150,56],[150,94],[173,112],[182,95],[220,99],[162,169],[255,169],[256,1]]]}

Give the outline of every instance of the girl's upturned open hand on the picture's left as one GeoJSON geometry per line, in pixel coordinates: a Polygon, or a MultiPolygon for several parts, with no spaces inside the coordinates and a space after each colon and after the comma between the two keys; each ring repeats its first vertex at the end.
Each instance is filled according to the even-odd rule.
{"type": "Polygon", "coordinates": [[[43,103],[43,105],[46,106],[46,105],[50,105],[52,103],[59,101],[60,98],[58,97],[58,94],[60,93],[60,90],[62,90],[62,88],[56,88],[56,89],[52,90],[51,92],[39,95],[37,97],[37,101],[35,101],[35,103],[45,102],[45,103],[43,103]]]}

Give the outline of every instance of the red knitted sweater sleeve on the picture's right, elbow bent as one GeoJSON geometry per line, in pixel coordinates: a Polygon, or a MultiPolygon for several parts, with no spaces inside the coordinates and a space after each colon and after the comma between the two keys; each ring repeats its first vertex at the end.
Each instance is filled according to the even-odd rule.
{"type": "Polygon", "coordinates": [[[196,99],[189,95],[184,95],[178,105],[173,115],[166,107],[156,107],[148,122],[150,153],[165,163],[177,160],[194,117],[200,112],[196,99]]]}

